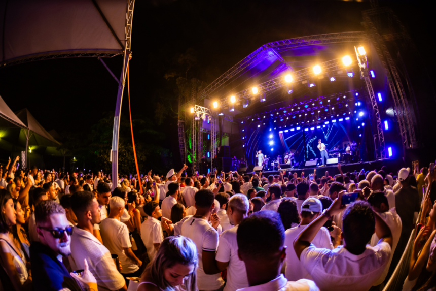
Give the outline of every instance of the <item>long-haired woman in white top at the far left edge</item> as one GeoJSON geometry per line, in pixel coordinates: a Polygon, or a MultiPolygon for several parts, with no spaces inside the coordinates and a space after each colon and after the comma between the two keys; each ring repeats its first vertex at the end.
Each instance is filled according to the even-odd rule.
{"type": "Polygon", "coordinates": [[[32,280],[21,248],[12,240],[11,228],[16,224],[14,202],[10,193],[0,189],[0,278],[5,290],[31,290],[32,280]]]}

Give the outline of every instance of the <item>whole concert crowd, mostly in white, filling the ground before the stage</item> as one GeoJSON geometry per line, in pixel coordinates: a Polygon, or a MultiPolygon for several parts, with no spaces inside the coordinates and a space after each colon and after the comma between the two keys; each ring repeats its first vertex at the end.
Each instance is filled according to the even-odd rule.
{"type": "Polygon", "coordinates": [[[382,290],[414,229],[403,290],[436,290],[436,175],[418,164],[112,180],[18,159],[0,168],[0,290],[382,290]]]}

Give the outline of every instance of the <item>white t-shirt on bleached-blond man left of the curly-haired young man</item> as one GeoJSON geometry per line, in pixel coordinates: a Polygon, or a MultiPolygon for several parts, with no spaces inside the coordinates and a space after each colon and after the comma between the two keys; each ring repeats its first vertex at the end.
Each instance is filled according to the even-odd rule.
{"type": "Polygon", "coordinates": [[[127,225],[118,219],[107,217],[100,223],[100,234],[104,246],[111,252],[111,254],[118,254],[120,260],[122,274],[130,274],[139,270],[138,265],[127,257],[124,248],[132,247],[130,242],[129,230],[127,225]]]}

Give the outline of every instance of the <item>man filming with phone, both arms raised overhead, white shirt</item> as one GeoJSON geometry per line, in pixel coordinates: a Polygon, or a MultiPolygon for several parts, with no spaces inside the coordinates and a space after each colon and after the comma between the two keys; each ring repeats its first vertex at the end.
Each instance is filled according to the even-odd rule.
{"type": "Polygon", "coordinates": [[[368,202],[357,201],[347,208],[341,205],[342,193],[329,209],[301,232],[294,250],[313,281],[322,290],[369,290],[389,261],[392,233],[368,202]],[[344,211],[344,245],[330,250],[316,248],[311,242],[332,215],[344,211]],[[374,230],[380,239],[375,247],[367,245],[374,230]]]}

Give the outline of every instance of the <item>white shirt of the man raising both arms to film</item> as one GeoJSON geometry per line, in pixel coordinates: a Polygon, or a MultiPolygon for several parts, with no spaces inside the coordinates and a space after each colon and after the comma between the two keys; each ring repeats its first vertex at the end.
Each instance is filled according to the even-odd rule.
{"type": "Polygon", "coordinates": [[[310,244],[303,250],[300,261],[316,285],[325,291],[369,290],[383,273],[391,247],[380,242],[375,247],[355,255],[344,246],[330,250],[310,244]]]}

